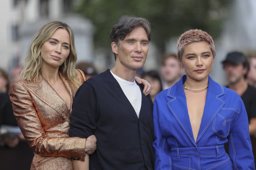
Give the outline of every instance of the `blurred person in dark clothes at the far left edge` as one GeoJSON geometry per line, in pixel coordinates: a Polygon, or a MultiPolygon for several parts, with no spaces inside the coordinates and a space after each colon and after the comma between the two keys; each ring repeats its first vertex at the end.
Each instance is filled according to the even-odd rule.
{"type": "MultiPolygon", "coordinates": [[[[0,68],[0,128],[3,126],[18,128],[8,90],[8,75],[0,68]]],[[[29,169],[34,154],[21,133],[1,134],[0,143],[0,169],[29,169]]]]}

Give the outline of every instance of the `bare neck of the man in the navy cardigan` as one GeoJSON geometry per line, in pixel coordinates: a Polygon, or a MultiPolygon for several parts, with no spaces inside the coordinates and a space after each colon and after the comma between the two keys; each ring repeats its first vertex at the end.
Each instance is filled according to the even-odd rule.
{"type": "Polygon", "coordinates": [[[129,69],[116,64],[110,71],[126,81],[134,82],[137,69],[129,69]]]}

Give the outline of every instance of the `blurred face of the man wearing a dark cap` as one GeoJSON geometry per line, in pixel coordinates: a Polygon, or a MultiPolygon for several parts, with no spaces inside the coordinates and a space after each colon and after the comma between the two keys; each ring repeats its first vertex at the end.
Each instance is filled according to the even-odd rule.
{"type": "Polygon", "coordinates": [[[223,64],[226,76],[228,78],[229,84],[235,84],[244,78],[247,72],[247,68],[243,66],[242,63],[234,64],[231,62],[226,62],[223,64]]]}

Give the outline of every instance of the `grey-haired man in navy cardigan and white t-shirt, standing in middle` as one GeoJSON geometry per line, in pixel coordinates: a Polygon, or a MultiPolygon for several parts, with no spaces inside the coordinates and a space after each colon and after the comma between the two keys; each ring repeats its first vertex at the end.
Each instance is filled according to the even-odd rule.
{"type": "Polygon", "coordinates": [[[92,170],[154,169],[154,128],[150,96],[135,81],[147,57],[151,28],[144,18],[122,16],[110,32],[116,64],[77,90],[70,136],[97,138],[92,170]]]}

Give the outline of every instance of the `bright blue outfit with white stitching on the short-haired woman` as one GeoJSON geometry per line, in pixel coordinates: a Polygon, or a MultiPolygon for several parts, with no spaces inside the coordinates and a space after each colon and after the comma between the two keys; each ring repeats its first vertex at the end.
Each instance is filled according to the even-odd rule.
{"type": "Polygon", "coordinates": [[[246,110],[240,96],[209,76],[206,103],[195,142],[183,83],[154,101],[156,170],[254,170],[246,110]],[[229,145],[229,154],[224,143],[229,145]]]}

